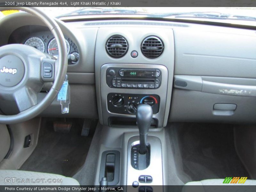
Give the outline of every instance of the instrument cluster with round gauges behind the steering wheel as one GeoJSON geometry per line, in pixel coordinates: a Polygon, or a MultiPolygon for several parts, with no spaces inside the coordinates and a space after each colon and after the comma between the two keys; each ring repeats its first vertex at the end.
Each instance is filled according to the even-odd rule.
{"type": "MultiPolygon", "coordinates": [[[[79,52],[77,46],[68,37],[65,37],[65,41],[68,53],[68,64],[76,64],[79,60],[79,52]]],[[[45,31],[30,34],[24,39],[22,43],[58,58],[58,45],[56,39],[54,38],[51,32],[45,31]]]]}

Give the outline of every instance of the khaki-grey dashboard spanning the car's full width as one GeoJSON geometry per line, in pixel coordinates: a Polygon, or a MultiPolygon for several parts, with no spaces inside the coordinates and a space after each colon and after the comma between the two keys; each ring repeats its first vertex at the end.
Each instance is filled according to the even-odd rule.
{"type": "MultiPolygon", "coordinates": [[[[44,24],[17,14],[0,20],[0,46],[27,44],[57,56],[44,24]]],[[[70,112],[60,114],[55,100],[41,116],[134,126],[136,105],[148,103],[153,127],[168,121],[256,123],[255,30],[141,19],[56,21],[76,58],[67,72],[70,112]]],[[[7,105],[12,103],[0,101],[1,110],[12,114],[7,105]]]]}

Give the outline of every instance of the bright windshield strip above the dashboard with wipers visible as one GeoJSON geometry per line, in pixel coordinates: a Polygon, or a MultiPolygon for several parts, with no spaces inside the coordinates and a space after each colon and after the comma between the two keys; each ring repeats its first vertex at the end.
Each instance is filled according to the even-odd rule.
{"type": "Polygon", "coordinates": [[[256,26],[256,7],[38,7],[61,20],[136,17],[203,20],[256,26]]]}

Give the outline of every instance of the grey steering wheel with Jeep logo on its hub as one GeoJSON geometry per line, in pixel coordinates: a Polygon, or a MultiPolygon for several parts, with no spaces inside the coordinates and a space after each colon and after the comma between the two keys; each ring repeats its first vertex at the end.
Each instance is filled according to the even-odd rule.
{"type": "Polygon", "coordinates": [[[17,115],[0,115],[1,124],[23,122],[46,109],[59,93],[68,66],[65,39],[56,21],[35,7],[0,7],[0,11],[14,9],[28,12],[45,23],[56,39],[59,57],[54,60],[24,44],[0,47],[0,99],[16,101],[20,111],[17,115]],[[45,82],[53,82],[52,88],[37,103],[37,94],[45,82]]]}

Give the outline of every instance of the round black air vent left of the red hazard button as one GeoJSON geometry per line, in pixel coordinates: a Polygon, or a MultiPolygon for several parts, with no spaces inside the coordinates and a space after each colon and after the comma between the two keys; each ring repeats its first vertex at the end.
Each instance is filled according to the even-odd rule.
{"type": "Polygon", "coordinates": [[[111,57],[123,57],[128,50],[128,43],[124,37],[115,35],[108,39],[106,50],[111,57]]]}

